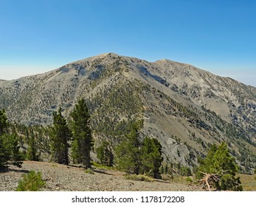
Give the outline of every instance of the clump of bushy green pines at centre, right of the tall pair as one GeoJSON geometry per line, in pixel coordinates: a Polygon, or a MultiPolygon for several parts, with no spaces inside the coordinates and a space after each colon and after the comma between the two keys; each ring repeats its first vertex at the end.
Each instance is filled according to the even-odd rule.
{"type": "Polygon", "coordinates": [[[115,149],[117,167],[128,174],[146,174],[159,178],[162,164],[162,146],[156,138],[139,138],[138,127],[126,135],[125,141],[115,149]]]}

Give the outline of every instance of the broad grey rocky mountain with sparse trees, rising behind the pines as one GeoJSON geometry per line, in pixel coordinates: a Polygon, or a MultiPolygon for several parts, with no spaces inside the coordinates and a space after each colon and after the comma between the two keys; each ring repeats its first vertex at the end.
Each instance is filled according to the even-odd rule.
{"type": "Polygon", "coordinates": [[[256,88],[184,63],[101,54],[30,77],[0,81],[10,121],[44,126],[85,98],[96,139],[120,142],[131,122],[157,138],[166,160],[193,167],[225,141],[241,171],[256,163],[256,88]]]}

